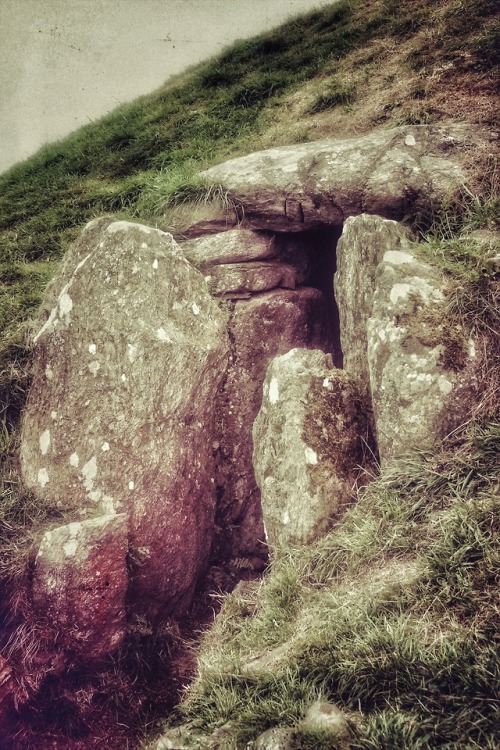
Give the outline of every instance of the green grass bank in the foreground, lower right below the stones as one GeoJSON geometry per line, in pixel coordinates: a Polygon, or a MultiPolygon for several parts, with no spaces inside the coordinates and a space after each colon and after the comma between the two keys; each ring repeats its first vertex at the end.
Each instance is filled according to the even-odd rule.
{"type": "Polygon", "coordinates": [[[270,726],[296,728],[297,748],[341,747],[298,729],[322,699],[346,713],[351,748],[495,747],[499,443],[498,424],[471,427],[375,480],[311,547],[275,550],[255,613],[226,600],[177,720],[231,722],[222,748],[270,726]]]}

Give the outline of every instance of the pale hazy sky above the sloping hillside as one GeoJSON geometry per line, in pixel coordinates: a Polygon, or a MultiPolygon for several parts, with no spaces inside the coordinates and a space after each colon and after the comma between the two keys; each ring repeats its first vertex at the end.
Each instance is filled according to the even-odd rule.
{"type": "Polygon", "coordinates": [[[0,0],[0,172],[332,0],[0,0]]]}

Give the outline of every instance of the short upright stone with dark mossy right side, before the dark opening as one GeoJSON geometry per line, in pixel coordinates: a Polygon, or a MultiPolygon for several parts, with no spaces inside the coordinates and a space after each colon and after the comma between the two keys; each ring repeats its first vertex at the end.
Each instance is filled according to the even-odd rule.
{"type": "Polygon", "coordinates": [[[308,542],[351,499],[362,463],[359,392],[330,356],[305,349],[273,359],[263,390],[253,462],[267,540],[308,542]]]}

